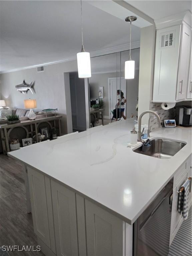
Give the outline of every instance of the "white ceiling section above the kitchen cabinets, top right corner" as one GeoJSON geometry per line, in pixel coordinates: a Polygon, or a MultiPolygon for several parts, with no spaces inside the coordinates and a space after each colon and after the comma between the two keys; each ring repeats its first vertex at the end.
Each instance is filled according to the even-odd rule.
{"type": "Polygon", "coordinates": [[[154,20],[191,11],[191,0],[127,0],[125,1],[154,20]]]}

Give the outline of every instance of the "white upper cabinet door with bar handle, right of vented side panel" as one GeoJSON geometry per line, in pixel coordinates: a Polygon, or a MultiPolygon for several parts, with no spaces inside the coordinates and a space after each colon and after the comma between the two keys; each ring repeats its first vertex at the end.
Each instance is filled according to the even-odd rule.
{"type": "Polygon", "coordinates": [[[177,79],[177,95],[176,100],[187,98],[187,85],[189,74],[190,48],[191,48],[191,30],[182,25],[181,46],[179,54],[179,69],[177,79]]]}

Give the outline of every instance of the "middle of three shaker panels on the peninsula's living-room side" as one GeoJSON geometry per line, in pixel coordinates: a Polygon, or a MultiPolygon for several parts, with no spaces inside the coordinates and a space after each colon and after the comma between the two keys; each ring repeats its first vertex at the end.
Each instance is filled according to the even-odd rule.
{"type": "Polygon", "coordinates": [[[56,251],[59,256],[77,256],[75,193],[51,180],[56,251]]]}

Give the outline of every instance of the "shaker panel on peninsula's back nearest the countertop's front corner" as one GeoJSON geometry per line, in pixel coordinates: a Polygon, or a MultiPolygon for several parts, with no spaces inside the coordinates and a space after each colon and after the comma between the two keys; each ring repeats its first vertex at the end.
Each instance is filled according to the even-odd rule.
{"type": "Polygon", "coordinates": [[[123,221],[85,200],[87,255],[122,256],[123,221]]]}

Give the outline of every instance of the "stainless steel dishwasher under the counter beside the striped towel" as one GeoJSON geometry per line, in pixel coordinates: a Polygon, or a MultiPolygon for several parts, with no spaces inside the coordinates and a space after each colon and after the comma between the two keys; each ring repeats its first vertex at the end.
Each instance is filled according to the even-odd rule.
{"type": "Polygon", "coordinates": [[[167,256],[169,253],[173,179],[134,223],[134,256],[167,256]]]}

